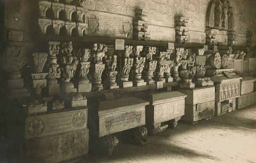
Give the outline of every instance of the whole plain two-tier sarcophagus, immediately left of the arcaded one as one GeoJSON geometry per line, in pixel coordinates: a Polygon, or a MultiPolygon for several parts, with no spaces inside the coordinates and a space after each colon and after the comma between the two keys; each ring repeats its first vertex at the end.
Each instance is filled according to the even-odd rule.
{"type": "Polygon", "coordinates": [[[181,117],[183,121],[194,124],[201,119],[207,119],[214,115],[214,86],[179,89],[179,91],[187,95],[185,115],[181,117]]]}

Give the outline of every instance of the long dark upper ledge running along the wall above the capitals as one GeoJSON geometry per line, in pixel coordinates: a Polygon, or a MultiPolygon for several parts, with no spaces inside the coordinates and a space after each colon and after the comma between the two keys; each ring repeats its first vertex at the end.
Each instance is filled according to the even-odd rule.
{"type": "MultiPolygon", "coordinates": [[[[124,39],[124,38],[114,38],[114,37],[100,37],[100,36],[84,36],[84,37],[70,37],[70,36],[42,36],[43,40],[47,41],[74,41],[74,42],[88,42],[88,43],[105,43],[113,44],[115,39],[124,39]]],[[[138,41],[132,39],[124,39],[125,45],[143,45],[143,46],[162,46],[167,47],[167,41],[138,41]]],[[[204,48],[204,44],[177,44],[174,43],[175,47],[185,47],[185,48],[204,48]]],[[[209,49],[213,49],[213,46],[208,46],[209,49]]],[[[228,46],[222,45],[218,46],[218,49],[228,49],[228,46]]],[[[243,50],[246,51],[246,47],[233,47],[233,50],[243,50]]],[[[255,49],[251,49],[255,50],[255,49]]]]}

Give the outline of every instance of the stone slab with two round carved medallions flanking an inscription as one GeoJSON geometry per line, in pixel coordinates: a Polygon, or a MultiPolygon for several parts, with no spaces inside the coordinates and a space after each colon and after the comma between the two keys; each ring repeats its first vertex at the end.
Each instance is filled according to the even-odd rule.
{"type": "Polygon", "coordinates": [[[30,116],[26,118],[25,138],[40,138],[87,128],[87,109],[30,116]]]}

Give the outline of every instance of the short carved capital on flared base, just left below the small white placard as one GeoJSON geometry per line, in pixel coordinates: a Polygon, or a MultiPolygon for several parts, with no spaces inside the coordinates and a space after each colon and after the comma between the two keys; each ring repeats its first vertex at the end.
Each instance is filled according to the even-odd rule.
{"type": "Polygon", "coordinates": [[[116,71],[117,67],[117,56],[116,55],[106,55],[105,56],[105,71],[106,71],[106,82],[105,87],[107,89],[117,89],[119,86],[116,83],[116,71]]]}

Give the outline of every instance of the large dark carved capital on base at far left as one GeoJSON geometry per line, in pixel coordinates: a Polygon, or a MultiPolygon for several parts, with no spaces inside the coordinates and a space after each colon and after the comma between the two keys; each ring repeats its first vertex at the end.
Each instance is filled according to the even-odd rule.
{"type": "Polygon", "coordinates": [[[28,90],[23,88],[24,82],[19,72],[28,62],[26,53],[27,49],[25,47],[5,47],[2,65],[8,76],[5,88],[9,98],[30,96],[28,90]]]}

